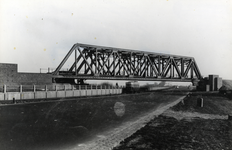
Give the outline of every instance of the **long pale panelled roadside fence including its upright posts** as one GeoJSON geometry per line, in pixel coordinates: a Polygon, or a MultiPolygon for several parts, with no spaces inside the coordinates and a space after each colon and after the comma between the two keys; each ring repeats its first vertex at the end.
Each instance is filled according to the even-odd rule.
{"type": "Polygon", "coordinates": [[[65,97],[82,97],[82,96],[97,96],[121,94],[122,88],[118,87],[104,87],[104,86],[79,86],[78,88],[72,86],[71,88],[63,89],[57,88],[55,90],[48,90],[44,86],[44,91],[37,91],[36,86],[33,86],[33,91],[23,90],[23,86],[19,86],[19,92],[7,92],[7,86],[4,85],[2,93],[0,93],[0,100],[26,100],[26,99],[49,99],[49,98],[65,98],[65,97]]]}

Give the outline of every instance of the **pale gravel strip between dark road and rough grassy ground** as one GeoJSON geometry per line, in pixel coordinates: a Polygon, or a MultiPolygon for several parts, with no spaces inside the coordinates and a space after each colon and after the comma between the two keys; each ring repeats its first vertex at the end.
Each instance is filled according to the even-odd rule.
{"type": "Polygon", "coordinates": [[[154,119],[158,115],[162,114],[164,111],[169,109],[170,107],[178,104],[181,100],[184,99],[185,96],[182,96],[175,100],[174,102],[171,102],[167,105],[161,105],[156,110],[152,110],[143,116],[140,116],[139,119],[127,122],[121,125],[120,127],[114,129],[113,131],[105,132],[101,136],[99,135],[99,139],[95,141],[90,141],[87,144],[79,144],[72,150],[109,150],[113,149],[116,145],[119,144],[120,141],[124,140],[125,138],[131,136],[133,133],[135,133],[140,128],[144,127],[146,123],[148,123],[150,120],[154,119]]]}

